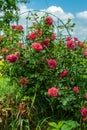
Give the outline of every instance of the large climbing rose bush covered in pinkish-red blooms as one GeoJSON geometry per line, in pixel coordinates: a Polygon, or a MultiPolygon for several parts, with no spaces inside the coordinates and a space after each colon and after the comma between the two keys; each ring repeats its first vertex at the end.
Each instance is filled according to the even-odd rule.
{"type": "MultiPolygon", "coordinates": [[[[8,115],[3,117],[15,119],[20,114],[17,128],[20,119],[28,119],[31,129],[47,117],[80,123],[87,109],[86,44],[71,36],[57,37],[54,21],[49,16],[32,24],[24,43],[21,25],[12,25],[7,30],[3,37],[0,36],[4,59],[1,73],[10,78],[10,84],[17,91],[8,94],[3,106],[11,109],[6,109],[8,115]]],[[[25,126],[26,123],[23,128],[25,126]]]]}

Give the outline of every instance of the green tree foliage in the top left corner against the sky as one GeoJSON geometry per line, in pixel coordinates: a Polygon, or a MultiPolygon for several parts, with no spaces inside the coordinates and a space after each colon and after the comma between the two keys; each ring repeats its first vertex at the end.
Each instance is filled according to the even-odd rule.
{"type": "Polygon", "coordinates": [[[27,3],[28,0],[0,0],[0,25],[10,24],[10,22],[18,21],[19,7],[18,3],[27,3]]]}

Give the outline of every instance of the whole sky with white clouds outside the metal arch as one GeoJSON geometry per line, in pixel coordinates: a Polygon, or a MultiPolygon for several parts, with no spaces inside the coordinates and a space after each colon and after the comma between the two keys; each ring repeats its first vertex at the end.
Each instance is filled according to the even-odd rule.
{"type": "Polygon", "coordinates": [[[87,40],[87,0],[30,0],[30,3],[20,4],[19,7],[21,13],[29,9],[50,12],[63,22],[71,18],[76,24],[72,35],[79,40],[87,40]]]}

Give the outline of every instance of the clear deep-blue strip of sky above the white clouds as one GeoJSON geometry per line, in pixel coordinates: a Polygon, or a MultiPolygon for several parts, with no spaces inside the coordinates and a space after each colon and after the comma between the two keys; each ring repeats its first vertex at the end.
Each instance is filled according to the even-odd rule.
{"type": "Polygon", "coordinates": [[[48,6],[60,6],[65,12],[82,12],[87,10],[87,0],[30,0],[28,8],[36,10],[48,8],[48,6]]]}

